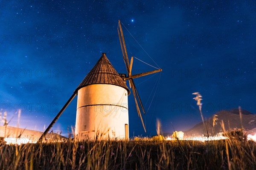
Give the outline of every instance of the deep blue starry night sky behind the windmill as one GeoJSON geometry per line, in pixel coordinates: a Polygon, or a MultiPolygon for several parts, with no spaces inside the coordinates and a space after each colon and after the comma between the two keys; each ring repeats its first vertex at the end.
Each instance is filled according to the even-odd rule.
{"type": "MultiPolygon", "coordinates": [[[[126,73],[118,39],[121,20],[132,74],[146,115],[144,133],[128,96],[129,130],[155,135],[187,130],[205,118],[241,106],[256,113],[255,1],[0,1],[0,106],[9,126],[44,131],[101,57],[126,73]],[[126,28],[126,29],[125,29],[126,28]]],[[[54,132],[76,121],[75,98],[54,132]]],[[[3,125],[3,122],[1,122],[3,125]]]]}

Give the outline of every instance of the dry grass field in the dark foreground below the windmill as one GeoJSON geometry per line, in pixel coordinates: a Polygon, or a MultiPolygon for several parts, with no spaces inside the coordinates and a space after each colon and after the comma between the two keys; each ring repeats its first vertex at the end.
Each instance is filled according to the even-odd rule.
{"type": "Polygon", "coordinates": [[[256,143],[218,141],[75,141],[0,144],[1,170],[253,170],[256,143]]]}

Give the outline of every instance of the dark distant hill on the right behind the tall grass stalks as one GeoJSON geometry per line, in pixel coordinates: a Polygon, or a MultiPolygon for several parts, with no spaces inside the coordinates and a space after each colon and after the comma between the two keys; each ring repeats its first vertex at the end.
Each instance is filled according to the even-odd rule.
{"type": "MultiPolygon", "coordinates": [[[[248,132],[253,132],[256,128],[256,114],[248,112],[247,110],[241,110],[242,113],[242,125],[244,130],[248,132]]],[[[208,132],[213,135],[219,132],[222,132],[221,120],[224,122],[225,130],[233,130],[234,128],[241,128],[241,121],[239,115],[239,109],[222,110],[217,112],[215,115],[218,115],[216,118],[217,124],[213,128],[213,116],[205,121],[208,132]]],[[[184,132],[184,136],[201,136],[204,134],[204,125],[203,122],[196,124],[191,129],[184,132]]]]}

